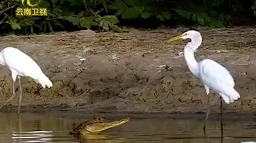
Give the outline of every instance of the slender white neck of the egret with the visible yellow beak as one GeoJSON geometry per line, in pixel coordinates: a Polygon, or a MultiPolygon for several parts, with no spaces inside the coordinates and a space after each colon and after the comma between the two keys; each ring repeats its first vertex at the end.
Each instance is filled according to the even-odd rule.
{"type": "MultiPolygon", "coordinates": [[[[199,47],[199,46],[198,46],[199,47]]],[[[194,49],[193,43],[189,42],[184,47],[184,57],[186,60],[186,63],[189,67],[189,70],[197,77],[199,78],[199,65],[196,61],[196,58],[194,56],[194,49]]]]}

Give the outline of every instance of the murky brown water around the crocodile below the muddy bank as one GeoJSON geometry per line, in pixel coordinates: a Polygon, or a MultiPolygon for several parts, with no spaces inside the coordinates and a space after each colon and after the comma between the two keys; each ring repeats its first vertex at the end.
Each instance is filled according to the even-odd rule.
{"type": "MultiPolygon", "coordinates": [[[[84,119],[63,119],[55,115],[0,113],[1,143],[79,143],[69,135],[73,123],[84,119]]],[[[97,143],[220,143],[220,122],[207,122],[207,136],[202,121],[174,119],[130,119],[124,125],[99,135],[88,135],[84,142],[97,143]]],[[[255,122],[224,122],[224,143],[256,141],[255,122]]]]}

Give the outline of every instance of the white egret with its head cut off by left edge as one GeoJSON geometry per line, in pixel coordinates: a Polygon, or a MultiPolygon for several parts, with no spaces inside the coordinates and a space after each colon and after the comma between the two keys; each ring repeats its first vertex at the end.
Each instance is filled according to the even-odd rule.
{"type": "Polygon", "coordinates": [[[23,53],[21,50],[16,49],[14,47],[5,47],[0,52],[0,64],[8,67],[11,71],[13,85],[12,85],[12,96],[0,107],[0,109],[7,104],[12,98],[15,97],[15,81],[18,76],[19,80],[19,108],[18,114],[20,113],[20,106],[22,100],[22,88],[20,77],[27,76],[31,77],[35,80],[36,83],[39,83],[45,87],[52,87],[53,83],[49,80],[49,78],[43,73],[38,64],[32,60],[27,54],[23,53]]]}

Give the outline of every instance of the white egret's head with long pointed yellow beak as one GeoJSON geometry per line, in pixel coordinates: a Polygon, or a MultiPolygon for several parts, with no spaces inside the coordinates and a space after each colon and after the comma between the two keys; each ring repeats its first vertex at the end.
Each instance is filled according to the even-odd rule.
{"type": "Polygon", "coordinates": [[[200,34],[200,32],[196,31],[196,30],[189,30],[184,32],[183,34],[176,36],[176,37],[172,37],[171,39],[169,39],[167,42],[172,42],[172,41],[177,41],[177,40],[185,40],[185,39],[191,39],[190,44],[192,44],[193,46],[190,46],[191,50],[195,51],[202,43],[202,36],[200,34]]]}

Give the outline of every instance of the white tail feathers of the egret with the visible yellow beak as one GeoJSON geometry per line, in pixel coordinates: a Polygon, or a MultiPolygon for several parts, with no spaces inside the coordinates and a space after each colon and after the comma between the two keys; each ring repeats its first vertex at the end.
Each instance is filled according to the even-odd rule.
{"type": "Polygon", "coordinates": [[[220,96],[227,104],[230,104],[240,98],[240,94],[234,88],[230,88],[229,90],[226,88],[225,93],[220,93],[220,96]]]}

